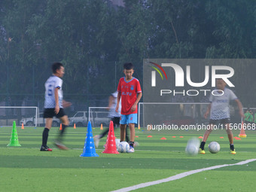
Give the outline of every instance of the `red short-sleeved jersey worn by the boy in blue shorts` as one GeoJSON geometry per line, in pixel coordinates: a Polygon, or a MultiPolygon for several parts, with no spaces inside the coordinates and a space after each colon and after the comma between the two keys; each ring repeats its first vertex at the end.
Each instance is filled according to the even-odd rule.
{"type": "Polygon", "coordinates": [[[139,80],[132,78],[130,81],[126,81],[125,77],[120,78],[117,91],[121,94],[121,114],[136,114],[138,107],[136,106],[136,111],[131,111],[133,104],[136,102],[137,93],[142,92],[139,80]]]}

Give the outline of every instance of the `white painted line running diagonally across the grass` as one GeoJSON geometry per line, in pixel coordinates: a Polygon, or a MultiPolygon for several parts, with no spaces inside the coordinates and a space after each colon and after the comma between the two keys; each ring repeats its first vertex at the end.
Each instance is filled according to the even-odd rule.
{"type": "Polygon", "coordinates": [[[118,190],[113,190],[112,192],[126,192],[126,191],[131,191],[131,190],[136,190],[136,189],[139,189],[139,188],[143,188],[143,187],[148,187],[148,186],[151,186],[151,185],[154,185],[154,184],[160,184],[160,183],[164,183],[164,182],[168,182],[168,181],[174,181],[174,180],[177,180],[179,178],[184,178],[188,175],[192,175],[194,173],[197,173],[197,172],[203,172],[203,171],[208,171],[208,170],[212,170],[212,169],[218,169],[218,168],[221,168],[221,167],[224,167],[224,166],[241,166],[241,165],[244,165],[246,163],[250,163],[252,161],[255,161],[256,159],[251,159],[251,160],[244,160],[244,161],[241,161],[239,163],[235,163],[235,164],[224,164],[224,165],[219,165],[219,166],[210,166],[210,167],[207,167],[207,168],[203,168],[203,169],[196,169],[196,170],[192,170],[192,171],[189,171],[189,172],[182,172],[178,175],[173,175],[172,177],[169,177],[169,178],[163,178],[163,179],[160,179],[160,180],[157,180],[157,181],[150,181],[150,182],[146,182],[146,183],[142,183],[142,184],[136,184],[136,185],[133,185],[131,187],[124,187],[124,188],[121,188],[121,189],[118,189],[118,190]]]}

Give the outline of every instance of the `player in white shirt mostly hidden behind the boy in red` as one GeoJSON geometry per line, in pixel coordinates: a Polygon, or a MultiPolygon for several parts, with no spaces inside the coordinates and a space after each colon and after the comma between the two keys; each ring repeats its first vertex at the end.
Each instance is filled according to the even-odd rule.
{"type": "MultiPolygon", "coordinates": [[[[114,92],[111,94],[111,96],[109,96],[108,98],[108,117],[111,118],[111,120],[114,123],[114,128],[119,126],[119,122],[120,122],[120,110],[121,110],[121,103],[119,104],[119,109],[118,111],[115,111],[115,108],[117,106],[117,94],[118,92],[114,92]]],[[[94,142],[96,145],[96,148],[98,148],[99,146],[99,140],[102,139],[102,137],[104,137],[109,131],[109,128],[106,129],[105,131],[103,131],[101,134],[94,136],[94,142]]],[[[127,136],[127,131],[126,131],[126,142],[129,142],[129,137],[127,136]]]]}

